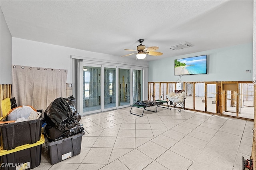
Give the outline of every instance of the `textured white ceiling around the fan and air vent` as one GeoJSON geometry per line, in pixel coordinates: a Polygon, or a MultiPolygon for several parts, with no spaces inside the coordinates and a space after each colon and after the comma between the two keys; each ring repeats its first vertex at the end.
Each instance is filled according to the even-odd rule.
{"type": "MultiPolygon", "coordinates": [[[[253,40],[253,1],[1,0],[12,37],[115,56],[143,45],[172,57],[253,40]],[[171,45],[194,47],[174,51],[171,45]]],[[[135,59],[135,55],[130,55],[135,59]]]]}

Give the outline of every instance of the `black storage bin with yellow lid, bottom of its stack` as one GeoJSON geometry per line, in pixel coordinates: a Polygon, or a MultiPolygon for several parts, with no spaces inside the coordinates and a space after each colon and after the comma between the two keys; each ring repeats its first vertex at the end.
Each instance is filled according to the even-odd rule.
{"type": "Polygon", "coordinates": [[[38,142],[18,146],[12,150],[0,150],[1,170],[29,170],[41,163],[44,135],[38,142]]]}

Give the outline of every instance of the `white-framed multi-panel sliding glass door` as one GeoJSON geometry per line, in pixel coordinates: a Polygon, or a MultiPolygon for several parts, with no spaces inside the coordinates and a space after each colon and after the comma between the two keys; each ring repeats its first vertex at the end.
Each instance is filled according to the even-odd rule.
{"type": "Polygon", "coordinates": [[[143,69],[82,63],[82,115],[128,107],[143,100],[143,69]]]}

